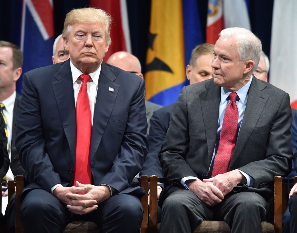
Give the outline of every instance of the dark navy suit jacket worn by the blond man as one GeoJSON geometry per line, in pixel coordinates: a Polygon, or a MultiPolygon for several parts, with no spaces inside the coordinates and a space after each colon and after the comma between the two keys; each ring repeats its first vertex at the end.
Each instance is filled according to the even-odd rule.
{"type": "MultiPolygon", "coordinates": [[[[25,73],[22,93],[15,145],[30,183],[23,192],[71,186],[77,122],[70,59],[25,73]]],[[[143,190],[128,186],[148,152],[145,94],[143,79],[102,62],[90,168],[92,184],[109,185],[113,195],[143,190]]]]}

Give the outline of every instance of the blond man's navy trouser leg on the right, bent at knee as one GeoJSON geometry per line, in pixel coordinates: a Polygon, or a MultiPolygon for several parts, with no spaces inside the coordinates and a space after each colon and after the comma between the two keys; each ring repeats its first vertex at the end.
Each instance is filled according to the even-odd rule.
{"type": "Polygon", "coordinates": [[[139,233],[143,207],[138,197],[118,194],[100,203],[97,210],[80,219],[94,221],[100,233],[139,233]]]}

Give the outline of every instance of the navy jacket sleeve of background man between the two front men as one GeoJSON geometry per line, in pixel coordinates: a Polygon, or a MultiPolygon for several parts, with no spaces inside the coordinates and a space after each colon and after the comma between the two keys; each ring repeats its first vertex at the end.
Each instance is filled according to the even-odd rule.
{"type": "Polygon", "coordinates": [[[146,156],[146,161],[140,171],[140,176],[159,176],[164,177],[162,167],[158,158],[158,153],[161,150],[165,135],[169,128],[169,121],[175,102],[154,111],[150,119],[149,129],[149,153],[146,156]]]}

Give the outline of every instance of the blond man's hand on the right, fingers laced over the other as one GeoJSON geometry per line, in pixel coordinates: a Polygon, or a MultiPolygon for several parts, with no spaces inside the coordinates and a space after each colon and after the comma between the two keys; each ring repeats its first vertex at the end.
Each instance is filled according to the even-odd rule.
{"type": "Polygon", "coordinates": [[[96,210],[98,208],[97,204],[105,201],[111,195],[110,189],[106,185],[95,186],[91,184],[80,184],[76,181],[76,186],[83,189],[83,192],[86,192],[86,194],[66,194],[66,197],[70,200],[67,208],[75,214],[86,214],[96,210]]]}

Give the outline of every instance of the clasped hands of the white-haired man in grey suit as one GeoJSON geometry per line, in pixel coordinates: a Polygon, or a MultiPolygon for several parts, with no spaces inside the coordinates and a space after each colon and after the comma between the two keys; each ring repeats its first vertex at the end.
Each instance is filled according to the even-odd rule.
{"type": "Polygon", "coordinates": [[[237,170],[219,174],[210,179],[188,180],[185,182],[189,190],[194,192],[206,205],[214,206],[222,202],[225,195],[239,183],[247,183],[247,179],[237,170]]]}

